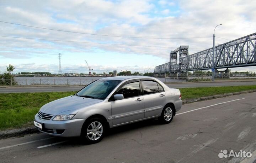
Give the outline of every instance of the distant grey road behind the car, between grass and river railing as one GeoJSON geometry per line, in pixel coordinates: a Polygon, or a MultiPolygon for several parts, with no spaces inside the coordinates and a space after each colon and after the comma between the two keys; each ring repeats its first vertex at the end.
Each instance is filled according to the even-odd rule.
{"type": "MultiPolygon", "coordinates": [[[[220,87],[220,86],[248,86],[256,85],[256,81],[247,82],[215,82],[215,83],[175,83],[167,84],[171,88],[192,88],[192,87],[220,87]]],[[[17,92],[64,92],[79,91],[84,86],[66,86],[66,87],[9,87],[0,88],[0,93],[17,93],[17,92]]]]}

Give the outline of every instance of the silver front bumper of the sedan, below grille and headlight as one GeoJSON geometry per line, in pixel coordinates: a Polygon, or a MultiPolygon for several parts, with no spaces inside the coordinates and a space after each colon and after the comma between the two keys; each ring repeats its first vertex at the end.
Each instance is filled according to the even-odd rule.
{"type": "Polygon", "coordinates": [[[74,137],[81,135],[82,125],[84,124],[84,119],[74,119],[66,121],[52,121],[52,120],[40,120],[35,116],[34,121],[43,124],[43,129],[38,130],[42,133],[46,133],[54,136],[63,137],[74,137]]]}

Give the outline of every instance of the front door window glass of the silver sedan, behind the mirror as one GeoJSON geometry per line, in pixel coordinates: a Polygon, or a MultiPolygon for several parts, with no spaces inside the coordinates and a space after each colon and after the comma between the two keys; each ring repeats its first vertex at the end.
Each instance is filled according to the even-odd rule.
{"type": "Polygon", "coordinates": [[[124,85],[116,94],[123,94],[124,98],[140,95],[139,82],[128,83],[124,85]]]}

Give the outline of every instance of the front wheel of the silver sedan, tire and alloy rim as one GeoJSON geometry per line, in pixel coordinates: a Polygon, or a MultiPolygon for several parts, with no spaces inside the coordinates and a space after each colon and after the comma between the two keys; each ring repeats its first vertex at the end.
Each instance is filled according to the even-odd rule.
{"type": "Polygon", "coordinates": [[[91,118],[85,121],[82,131],[81,140],[86,144],[94,144],[100,142],[105,133],[107,127],[101,118],[91,118]]]}

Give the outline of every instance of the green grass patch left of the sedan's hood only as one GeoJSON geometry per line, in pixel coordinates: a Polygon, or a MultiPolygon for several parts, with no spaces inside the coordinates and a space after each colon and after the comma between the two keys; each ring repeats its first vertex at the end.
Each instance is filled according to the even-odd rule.
{"type": "Polygon", "coordinates": [[[75,92],[42,93],[1,93],[0,130],[27,127],[33,124],[34,115],[50,101],[57,100],[75,92]]]}

